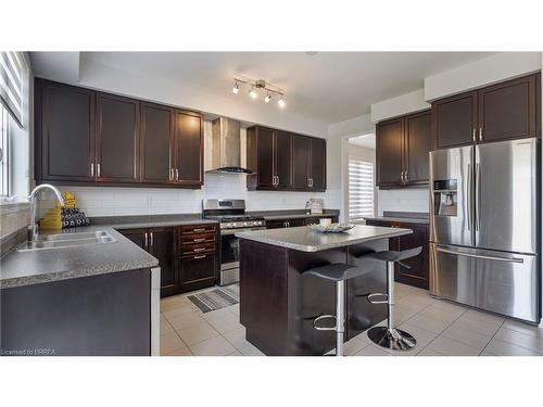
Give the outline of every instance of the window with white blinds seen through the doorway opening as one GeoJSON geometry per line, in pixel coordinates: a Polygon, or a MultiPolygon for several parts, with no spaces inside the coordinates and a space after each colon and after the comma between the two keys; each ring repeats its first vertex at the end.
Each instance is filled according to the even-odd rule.
{"type": "Polygon", "coordinates": [[[349,220],[374,216],[374,163],[349,157],[349,220]]]}

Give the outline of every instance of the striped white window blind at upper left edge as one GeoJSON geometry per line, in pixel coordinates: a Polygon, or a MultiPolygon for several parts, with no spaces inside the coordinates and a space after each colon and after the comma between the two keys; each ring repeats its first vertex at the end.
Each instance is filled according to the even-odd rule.
{"type": "Polygon", "coordinates": [[[26,71],[27,65],[22,52],[0,51],[0,102],[21,127],[26,71]]]}

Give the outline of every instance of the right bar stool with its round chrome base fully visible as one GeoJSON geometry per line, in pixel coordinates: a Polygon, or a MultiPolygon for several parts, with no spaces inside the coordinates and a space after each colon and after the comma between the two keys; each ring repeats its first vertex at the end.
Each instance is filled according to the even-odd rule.
{"type": "Polygon", "coordinates": [[[411,268],[402,263],[406,258],[415,257],[422,251],[422,246],[408,249],[401,252],[383,251],[366,254],[358,258],[361,259],[376,259],[387,262],[387,294],[374,293],[367,296],[371,304],[388,304],[389,317],[387,327],[374,327],[369,329],[369,339],[382,347],[388,347],[394,351],[409,351],[415,347],[417,341],[409,333],[396,329],[395,315],[394,315],[394,263],[401,264],[405,268],[411,268]],[[372,297],[384,296],[384,301],[374,301],[372,297]]]}

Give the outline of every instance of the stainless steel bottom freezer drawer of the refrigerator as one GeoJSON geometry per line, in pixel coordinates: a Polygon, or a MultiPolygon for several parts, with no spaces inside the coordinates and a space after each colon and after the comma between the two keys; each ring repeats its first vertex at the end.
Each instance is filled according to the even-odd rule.
{"type": "Polygon", "coordinates": [[[430,243],[430,293],[539,322],[538,257],[430,243]]]}

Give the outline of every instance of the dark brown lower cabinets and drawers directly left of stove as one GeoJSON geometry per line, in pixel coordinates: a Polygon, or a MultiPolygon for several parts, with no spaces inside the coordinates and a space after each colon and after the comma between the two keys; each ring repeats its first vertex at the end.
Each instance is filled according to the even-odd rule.
{"type": "Polygon", "coordinates": [[[119,232],[159,259],[161,296],[212,287],[217,274],[216,228],[189,227],[126,229],[119,232]],[[204,230],[206,234],[198,232],[204,230]],[[187,240],[192,237],[192,240],[187,240]],[[194,243],[197,242],[197,243],[194,243]]]}

